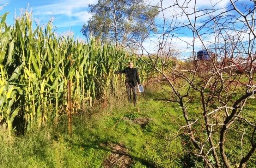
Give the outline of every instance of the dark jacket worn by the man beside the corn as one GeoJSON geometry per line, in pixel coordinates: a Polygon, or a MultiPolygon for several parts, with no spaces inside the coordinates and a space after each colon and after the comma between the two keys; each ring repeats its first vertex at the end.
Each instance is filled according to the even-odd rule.
{"type": "Polygon", "coordinates": [[[125,76],[126,76],[125,82],[129,83],[133,87],[137,85],[137,82],[140,85],[140,78],[139,78],[138,70],[136,68],[127,67],[119,72],[116,71],[115,73],[116,74],[125,73],[125,76]]]}

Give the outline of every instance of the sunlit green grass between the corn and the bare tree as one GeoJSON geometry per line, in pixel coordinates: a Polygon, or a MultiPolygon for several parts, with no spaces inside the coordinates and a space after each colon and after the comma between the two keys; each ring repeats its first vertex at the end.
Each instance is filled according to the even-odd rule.
{"type": "MultiPolygon", "coordinates": [[[[126,161],[133,168],[200,167],[200,160],[190,157],[182,141],[173,136],[179,129],[178,124],[184,123],[179,117],[182,112],[172,103],[152,100],[161,95],[161,90],[148,88],[139,96],[136,107],[120,101],[104,110],[93,109],[74,115],[72,138],[68,135],[66,116],[57,124],[49,122],[41,130],[25,136],[10,138],[2,127],[0,167],[96,168],[110,167],[114,159],[126,161]]],[[[255,107],[252,103],[246,110],[255,110],[255,107]]],[[[191,109],[196,109],[196,103],[191,109]]],[[[228,154],[236,159],[240,141],[231,144],[234,145],[230,146],[228,154]]],[[[254,163],[255,156],[251,165],[254,163]]]]}

